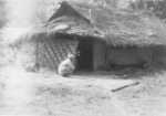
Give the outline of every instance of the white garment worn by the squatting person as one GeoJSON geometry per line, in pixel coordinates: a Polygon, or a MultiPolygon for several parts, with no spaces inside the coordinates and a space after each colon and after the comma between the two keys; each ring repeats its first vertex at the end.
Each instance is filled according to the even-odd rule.
{"type": "Polygon", "coordinates": [[[66,59],[59,65],[58,72],[60,75],[70,75],[72,74],[74,70],[75,70],[75,66],[73,65],[71,60],[66,59]]]}

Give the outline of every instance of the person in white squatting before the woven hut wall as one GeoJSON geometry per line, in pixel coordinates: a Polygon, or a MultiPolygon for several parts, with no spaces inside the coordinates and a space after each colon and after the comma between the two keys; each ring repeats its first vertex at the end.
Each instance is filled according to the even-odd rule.
{"type": "Polygon", "coordinates": [[[75,70],[74,66],[74,55],[73,54],[69,54],[68,59],[64,60],[58,67],[58,73],[59,75],[62,76],[69,76],[73,73],[73,71],[75,70]]]}

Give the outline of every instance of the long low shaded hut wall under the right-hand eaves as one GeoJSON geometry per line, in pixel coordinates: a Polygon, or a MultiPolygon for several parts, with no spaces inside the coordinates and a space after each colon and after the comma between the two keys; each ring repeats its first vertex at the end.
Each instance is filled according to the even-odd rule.
{"type": "Polygon", "coordinates": [[[156,65],[166,64],[166,46],[108,48],[110,65],[156,65]]]}

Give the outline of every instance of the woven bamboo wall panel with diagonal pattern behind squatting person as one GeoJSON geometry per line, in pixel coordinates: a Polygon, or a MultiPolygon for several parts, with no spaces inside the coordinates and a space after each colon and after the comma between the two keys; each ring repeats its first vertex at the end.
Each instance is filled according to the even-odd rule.
{"type": "Polygon", "coordinates": [[[65,39],[49,39],[39,43],[39,63],[56,70],[59,64],[68,57],[69,53],[75,54],[77,41],[65,39]]]}

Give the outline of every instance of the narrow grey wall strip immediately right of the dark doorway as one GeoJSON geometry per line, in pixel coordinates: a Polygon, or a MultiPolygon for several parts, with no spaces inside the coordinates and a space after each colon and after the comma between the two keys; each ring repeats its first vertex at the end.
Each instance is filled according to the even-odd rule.
{"type": "Polygon", "coordinates": [[[106,62],[106,43],[101,40],[94,40],[93,71],[100,70],[98,67],[105,65],[105,62],[106,62]]]}

